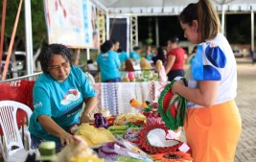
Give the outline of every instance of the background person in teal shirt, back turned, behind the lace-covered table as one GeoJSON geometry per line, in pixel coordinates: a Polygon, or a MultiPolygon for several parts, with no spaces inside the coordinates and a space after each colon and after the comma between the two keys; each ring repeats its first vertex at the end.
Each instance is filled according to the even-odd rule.
{"type": "Polygon", "coordinates": [[[119,82],[121,76],[119,67],[121,66],[118,54],[113,51],[112,41],[106,40],[101,46],[101,53],[97,57],[98,68],[101,71],[103,82],[119,82]]]}

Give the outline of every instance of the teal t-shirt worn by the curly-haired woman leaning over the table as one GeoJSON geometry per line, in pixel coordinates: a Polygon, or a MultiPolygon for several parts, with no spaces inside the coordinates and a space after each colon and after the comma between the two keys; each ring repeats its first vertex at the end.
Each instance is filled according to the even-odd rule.
{"type": "Polygon", "coordinates": [[[55,81],[49,74],[43,73],[35,81],[33,104],[35,110],[30,118],[29,130],[38,138],[59,141],[49,134],[38,122],[40,115],[50,116],[58,126],[66,131],[79,123],[84,98],[94,97],[96,92],[89,79],[77,66],[72,66],[66,81],[55,81]]]}

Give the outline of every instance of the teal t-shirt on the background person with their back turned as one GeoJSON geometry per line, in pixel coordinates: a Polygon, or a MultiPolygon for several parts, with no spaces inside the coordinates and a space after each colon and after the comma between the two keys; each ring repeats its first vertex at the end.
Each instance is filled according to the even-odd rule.
{"type": "Polygon", "coordinates": [[[97,63],[102,73],[102,81],[121,77],[118,69],[121,66],[121,62],[116,52],[109,50],[105,54],[100,53],[97,57],[97,63]]]}

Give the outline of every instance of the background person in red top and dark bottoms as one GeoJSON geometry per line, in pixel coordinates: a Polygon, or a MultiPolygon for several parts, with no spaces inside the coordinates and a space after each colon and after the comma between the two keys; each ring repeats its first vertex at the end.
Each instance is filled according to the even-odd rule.
{"type": "Polygon", "coordinates": [[[185,50],[178,46],[179,39],[175,36],[168,40],[168,54],[165,63],[165,71],[168,81],[173,81],[175,77],[184,77],[184,57],[185,50]]]}

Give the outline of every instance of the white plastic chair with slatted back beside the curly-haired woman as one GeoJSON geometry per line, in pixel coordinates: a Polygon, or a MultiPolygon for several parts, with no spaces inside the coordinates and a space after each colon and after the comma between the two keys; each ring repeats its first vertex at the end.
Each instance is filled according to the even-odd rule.
{"type": "Polygon", "coordinates": [[[31,108],[26,104],[14,101],[0,102],[0,126],[3,130],[3,143],[0,140],[0,149],[6,162],[24,162],[30,150],[30,133],[27,131],[25,136],[28,140],[29,150],[25,150],[22,143],[20,131],[17,126],[16,112],[20,108],[27,113],[28,122],[32,115],[31,108]]]}

